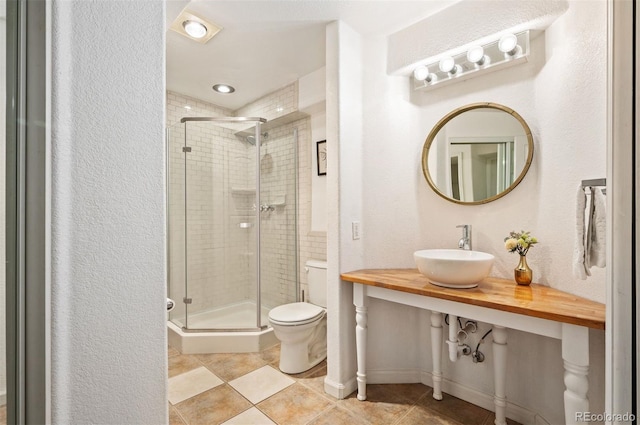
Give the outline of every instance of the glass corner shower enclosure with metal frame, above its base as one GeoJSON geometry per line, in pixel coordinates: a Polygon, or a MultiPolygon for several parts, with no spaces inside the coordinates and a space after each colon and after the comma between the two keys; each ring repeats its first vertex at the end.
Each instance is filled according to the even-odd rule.
{"type": "Polygon", "coordinates": [[[186,333],[265,331],[299,292],[297,131],[193,117],[167,133],[169,320],[186,333]]]}

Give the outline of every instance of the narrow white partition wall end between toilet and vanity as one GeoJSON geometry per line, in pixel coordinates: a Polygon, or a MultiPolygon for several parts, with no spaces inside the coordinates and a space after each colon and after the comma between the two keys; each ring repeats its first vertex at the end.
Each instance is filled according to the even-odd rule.
{"type": "Polygon", "coordinates": [[[362,268],[363,240],[351,239],[362,220],[362,37],[343,22],[327,25],[327,377],[325,391],[355,390],[355,314],[351,285],[340,273],[362,268]]]}

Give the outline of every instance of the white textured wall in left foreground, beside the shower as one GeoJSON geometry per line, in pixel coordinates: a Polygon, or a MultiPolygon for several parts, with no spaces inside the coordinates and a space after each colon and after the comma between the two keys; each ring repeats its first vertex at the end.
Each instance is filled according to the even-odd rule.
{"type": "Polygon", "coordinates": [[[164,5],[47,7],[52,422],[167,423],[164,5]]]}

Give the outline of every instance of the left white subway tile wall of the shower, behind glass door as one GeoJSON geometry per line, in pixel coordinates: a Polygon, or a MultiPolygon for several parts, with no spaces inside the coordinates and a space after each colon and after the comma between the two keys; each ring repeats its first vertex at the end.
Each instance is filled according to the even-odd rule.
{"type": "MultiPolygon", "coordinates": [[[[176,93],[167,96],[167,122],[178,123],[184,116],[229,116],[228,110],[176,93]],[[185,105],[191,106],[186,110],[185,105]]],[[[255,239],[251,229],[240,229],[239,222],[252,220],[253,199],[247,200],[237,188],[249,187],[246,172],[251,157],[250,145],[241,142],[234,130],[211,122],[188,122],[186,156],[187,181],[187,264],[188,287],[185,291],[184,215],[185,154],[184,124],[178,131],[181,140],[169,152],[169,228],[171,294],[180,301],[188,295],[193,300],[189,314],[228,304],[255,299],[251,274],[255,239]],[[240,193],[239,199],[236,193],[240,193]],[[214,202],[215,201],[215,202],[214,202]],[[249,231],[247,231],[249,230],[249,231]],[[253,243],[252,243],[253,242],[253,243]],[[225,249],[225,246],[227,247],[225,249]]],[[[252,184],[252,186],[254,186],[252,184]]],[[[179,310],[184,317],[184,310],[179,310]]],[[[172,317],[175,317],[173,315],[172,317]]],[[[183,320],[181,320],[183,323],[183,320]]]]}

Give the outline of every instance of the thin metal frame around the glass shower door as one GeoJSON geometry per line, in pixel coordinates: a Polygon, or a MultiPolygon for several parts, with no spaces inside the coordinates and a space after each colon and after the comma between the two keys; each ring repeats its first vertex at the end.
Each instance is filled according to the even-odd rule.
{"type": "MultiPolygon", "coordinates": [[[[256,327],[255,328],[197,328],[190,329],[188,328],[188,307],[185,307],[185,323],[182,326],[182,331],[187,333],[194,332],[256,332],[262,331],[268,328],[267,325],[262,325],[262,300],[261,300],[261,291],[260,291],[260,148],[262,146],[262,132],[261,126],[266,123],[267,120],[261,117],[184,117],[180,120],[181,123],[186,124],[190,121],[209,121],[209,122],[235,122],[235,123],[255,123],[255,138],[256,138],[256,327]]],[[[187,143],[187,128],[185,125],[184,131],[184,146],[186,147],[187,143]]],[[[187,222],[188,216],[186,212],[186,200],[187,200],[187,168],[186,168],[186,154],[188,151],[185,151],[185,188],[184,188],[184,197],[185,197],[185,244],[184,244],[184,256],[185,256],[185,301],[187,299],[187,285],[188,285],[188,263],[187,263],[187,246],[188,246],[188,233],[187,233],[187,222]]],[[[186,303],[186,302],[185,302],[186,303]]]]}

